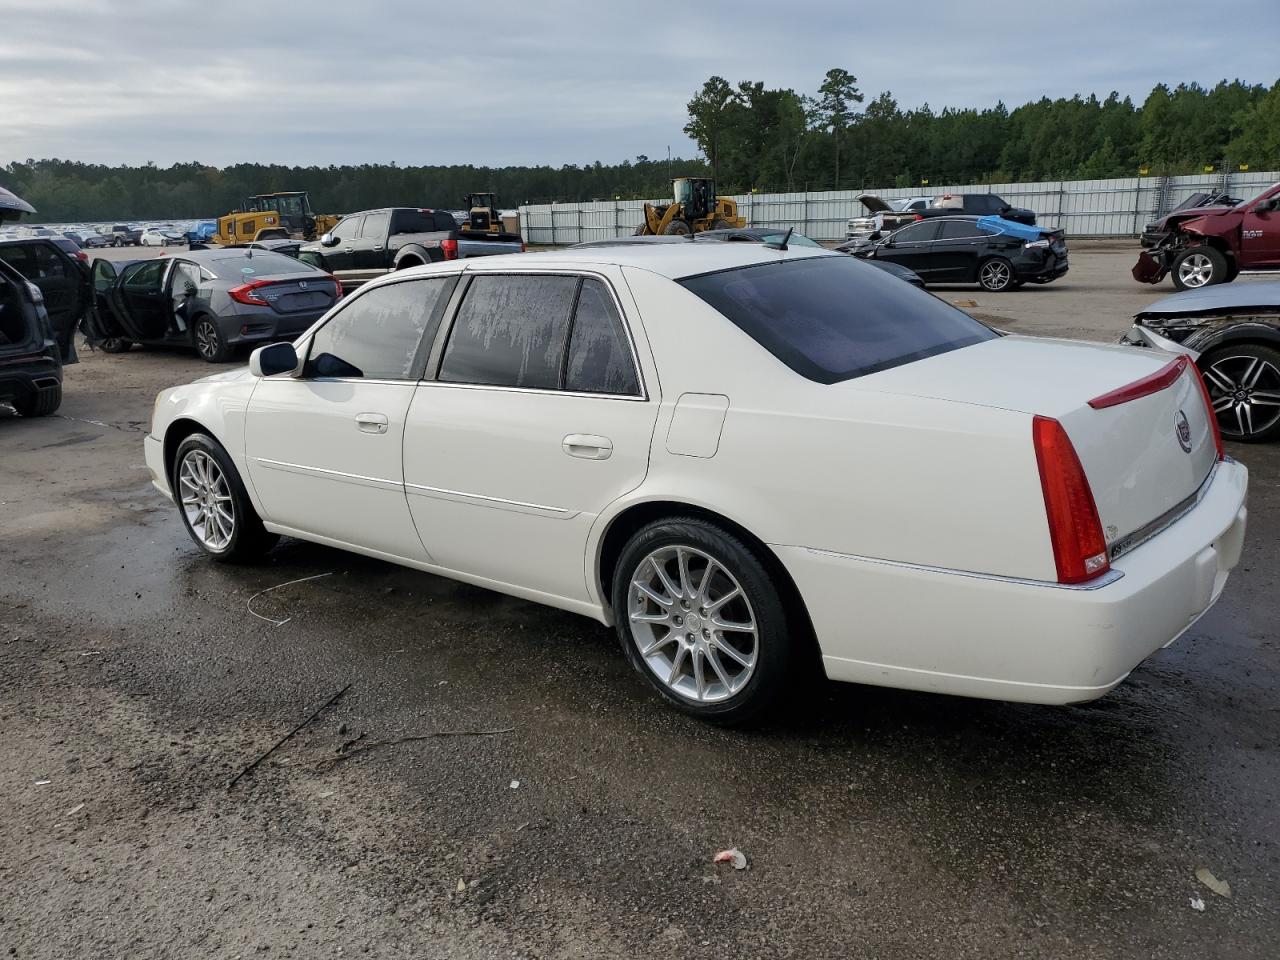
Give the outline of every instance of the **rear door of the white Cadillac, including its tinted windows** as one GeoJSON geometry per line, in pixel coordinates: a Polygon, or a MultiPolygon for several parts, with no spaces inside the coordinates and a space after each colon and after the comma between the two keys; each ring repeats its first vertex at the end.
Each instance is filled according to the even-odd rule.
{"type": "Polygon", "coordinates": [[[608,276],[466,283],[404,429],[413,521],[442,567],[588,600],[588,534],[644,480],[655,384],[608,276]]]}

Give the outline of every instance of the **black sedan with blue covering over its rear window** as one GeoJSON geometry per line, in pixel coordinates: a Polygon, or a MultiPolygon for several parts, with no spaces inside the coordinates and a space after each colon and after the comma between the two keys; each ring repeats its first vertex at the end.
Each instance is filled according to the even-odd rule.
{"type": "Polygon", "coordinates": [[[995,216],[940,216],[878,241],[855,239],[836,250],[905,266],[927,284],[977,283],[992,293],[1024,283],[1050,283],[1068,270],[1061,230],[995,216]]]}

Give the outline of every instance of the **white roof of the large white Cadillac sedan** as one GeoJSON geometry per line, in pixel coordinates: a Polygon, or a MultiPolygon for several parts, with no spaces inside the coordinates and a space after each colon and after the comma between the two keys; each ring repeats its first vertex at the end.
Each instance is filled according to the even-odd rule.
{"type": "MultiPolygon", "coordinates": [[[[581,269],[586,266],[634,266],[678,280],[686,276],[732,270],[739,266],[845,256],[814,247],[774,250],[763,243],[618,243],[602,247],[568,247],[547,253],[504,253],[466,261],[467,273],[503,271],[535,266],[581,269]]],[[[425,268],[415,268],[422,270],[425,268]]]]}

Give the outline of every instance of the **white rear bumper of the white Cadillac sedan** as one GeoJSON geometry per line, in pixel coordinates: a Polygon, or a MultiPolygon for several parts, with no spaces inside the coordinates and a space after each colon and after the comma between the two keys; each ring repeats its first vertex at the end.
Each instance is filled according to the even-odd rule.
{"type": "Polygon", "coordinates": [[[995,700],[1102,696],[1213,605],[1240,558],[1248,471],[1226,461],[1189,513],[1084,588],[776,547],[827,676],[995,700]]]}

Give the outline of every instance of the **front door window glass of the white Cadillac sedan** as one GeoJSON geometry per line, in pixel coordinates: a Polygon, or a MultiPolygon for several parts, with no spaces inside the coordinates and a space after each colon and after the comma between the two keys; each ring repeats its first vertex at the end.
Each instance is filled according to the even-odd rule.
{"type": "Polygon", "coordinates": [[[310,376],[407,380],[419,344],[434,333],[454,278],[406,280],[355,297],[311,339],[310,376]]]}

